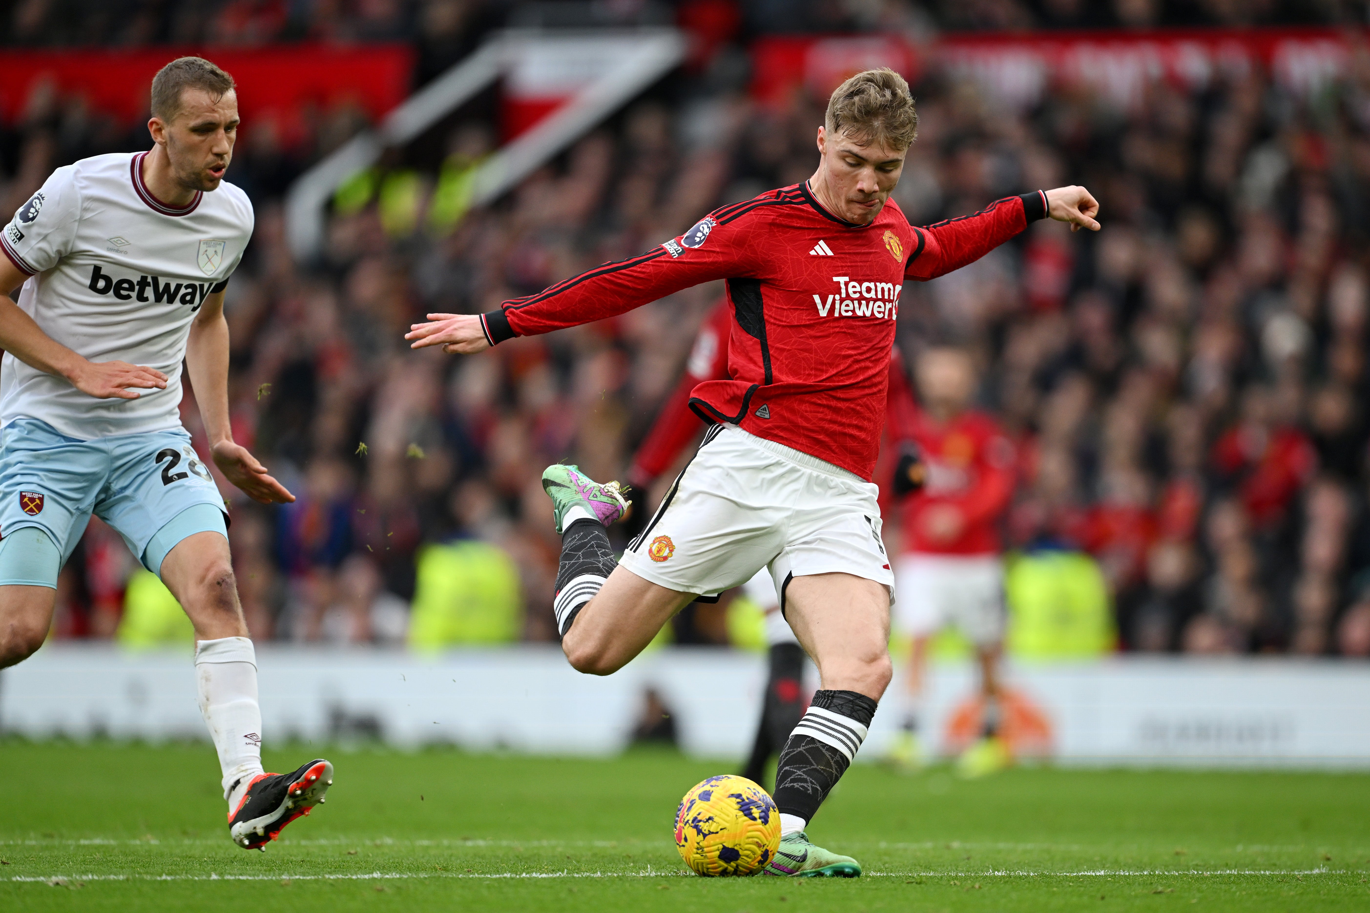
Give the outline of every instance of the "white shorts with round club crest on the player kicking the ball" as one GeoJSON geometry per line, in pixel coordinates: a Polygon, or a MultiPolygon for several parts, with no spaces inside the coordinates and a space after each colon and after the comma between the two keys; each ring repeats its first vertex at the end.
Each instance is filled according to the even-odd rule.
{"type": "Polygon", "coordinates": [[[880,538],[878,489],[830,463],[733,426],[714,426],[619,564],[704,597],[767,568],[785,608],[797,576],[895,575],[880,538]]]}

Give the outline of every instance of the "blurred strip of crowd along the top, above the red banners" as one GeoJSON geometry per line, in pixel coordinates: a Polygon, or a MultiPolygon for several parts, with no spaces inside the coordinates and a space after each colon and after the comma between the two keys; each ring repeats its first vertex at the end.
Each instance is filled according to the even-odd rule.
{"type": "Polygon", "coordinates": [[[1365,0],[4,0],[11,47],[410,41],[432,63],[495,25],[732,22],[744,38],[864,31],[1365,25],[1365,0]]]}

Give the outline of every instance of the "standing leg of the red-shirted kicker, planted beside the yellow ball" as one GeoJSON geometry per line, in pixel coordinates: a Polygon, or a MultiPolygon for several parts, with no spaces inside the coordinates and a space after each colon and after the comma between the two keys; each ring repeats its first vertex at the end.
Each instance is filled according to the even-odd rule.
{"type": "Polygon", "coordinates": [[[821,689],[780,754],[781,846],[766,873],[855,877],[856,860],[814,846],[804,828],[851,765],[889,686],[889,590],[851,574],[799,576],[785,606],[821,689]]]}

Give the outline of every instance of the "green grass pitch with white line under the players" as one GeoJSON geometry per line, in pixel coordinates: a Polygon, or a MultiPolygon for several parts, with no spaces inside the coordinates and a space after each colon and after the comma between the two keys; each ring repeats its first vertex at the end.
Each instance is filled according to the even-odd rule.
{"type": "Polygon", "coordinates": [[[866,877],[701,879],[671,819],[729,764],[325,754],[327,805],[255,853],[208,746],[3,741],[0,910],[1370,910],[1366,775],[859,765],[810,834],[866,877]]]}

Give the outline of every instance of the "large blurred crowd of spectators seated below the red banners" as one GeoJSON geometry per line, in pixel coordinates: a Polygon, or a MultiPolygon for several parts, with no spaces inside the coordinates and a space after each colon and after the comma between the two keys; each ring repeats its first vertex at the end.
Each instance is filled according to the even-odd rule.
{"type": "MultiPolygon", "coordinates": [[[[48,29],[73,5],[27,0],[11,21],[27,16],[34,42],[64,41],[48,29]]],[[[186,10],[199,10],[192,37],[232,41],[208,29],[258,16],[270,23],[253,34],[270,40],[315,34],[314,22],[412,40],[434,10],[485,8],[126,5],[156,23],[129,41],[178,38],[169,29],[186,10]]],[[[1037,23],[1096,10],[1099,25],[1117,25],[1129,10],[1222,19],[1351,7],[874,5],[941,25],[992,10],[1037,23]]],[[[458,33],[469,38],[467,27],[458,33]]],[[[269,509],[225,486],[253,636],[433,647],[553,638],[559,539],[540,472],[556,460],[601,479],[625,471],[722,287],[475,357],[412,353],[403,334],[425,313],[492,309],[648,249],[717,205],[806,179],[825,100],[759,108],[744,89],[745,73],[718,67],[669,79],[497,205],[470,211],[462,181],[497,129],[459,123],[440,168],[388,160],[344,185],[316,263],[290,257],[281,196],[345,129],[325,118],[285,149],[255,138],[245,112],[229,179],[253,196],[258,227],[227,292],[234,433],[299,498],[269,509]]],[[[1060,86],[1015,111],[936,67],[915,97],[921,134],[896,190],[915,224],[1062,183],[1103,201],[1099,234],[1036,223],[904,292],[906,357],[969,348],[980,405],[1018,443],[1012,548],[1096,561],[1119,649],[1370,656],[1370,55],[1312,97],[1252,71],[1195,92],[1155,82],[1129,110],[1060,86]]],[[[147,148],[141,127],[112,130],[58,101],[27,112],[0,131],[11,208],[59,164],[147,148]]],[[[203,448],[192,397],[182,412],[203,448]]],[[[145,576],[92,522],[62,575],[55,634],[156,642],[158,619],[174,627],[177,613],[159,615],[164,597],[145,576]]],[[[697,606],[673,635],[729,642],[736,627],[726,605],[697,606]]]]}

